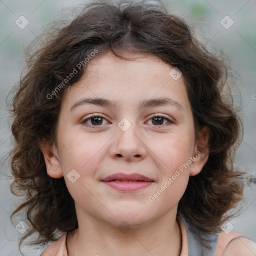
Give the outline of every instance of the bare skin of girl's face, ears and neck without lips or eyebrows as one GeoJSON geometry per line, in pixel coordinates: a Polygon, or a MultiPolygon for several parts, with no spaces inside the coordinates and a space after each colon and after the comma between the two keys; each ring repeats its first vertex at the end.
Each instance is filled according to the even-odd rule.
{"type": "Polygon", "coordinates": [[[65,91],[59,113],[57,144],[43,143],[47,173],[64,176],[75,201],[79,228],[67,238],[68,255],[180,255],[181,234],[176,221],[177,205],[189,176],[198,174],[208,159],[207,128],[195,127],[183,76],[174,80],[173,68],[154,56],[136,54],[123,60],[111,52],[88,63],[84,77],[65,91]],[[115,107],[80,105],[85,97],[117,101],[115,107]],[[165,97],[178,102],[167,106],[139,108],[146,99],[165,97]],[[105,118],[100,126],[93,114],[105,118]],[[153,117],[169,118],[157,124],[153,117]],[[131,126],[123,131],[118,123],[131,126]],[[95,120],[95,119],[94,119],[95,120]],[[94,124],[94,126],[93,126],[94,124]],[[189,158],[200,156],[154,201],[149,196],[189,158]],[[74,183],[68,173],[80,177],[74,183]],[[100,180],[124,172],[140,173],[155,182],[135,192],[121,192],[100,180]],[[128,231],[118,228],[123,221],[128,231]],[[97,253],[97,254],[96,254],[97,253]]]}

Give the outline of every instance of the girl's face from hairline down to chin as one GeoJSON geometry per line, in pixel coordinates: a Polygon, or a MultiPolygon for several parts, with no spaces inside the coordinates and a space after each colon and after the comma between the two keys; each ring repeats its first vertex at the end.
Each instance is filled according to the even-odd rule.
{"type": "Polygon", "coordinates": [[[108,52],[90,60],[66,90],[54,156],[44,151],[48,174],[64,176],[77,216],[114,226],[175,216],[189,176],[207,160],[197,151],[183,77],[173,79],[173,67],[157,57],[131,56],[139,58],[108,52]]]}

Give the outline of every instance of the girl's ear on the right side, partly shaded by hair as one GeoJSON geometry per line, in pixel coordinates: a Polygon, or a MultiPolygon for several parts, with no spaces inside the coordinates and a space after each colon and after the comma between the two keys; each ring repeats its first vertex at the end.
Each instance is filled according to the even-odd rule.
{"type": "Polygon", "coordinates": [[[190,168],[190,176],[199,174],[209,157],[209,128],[204,126],[198,132],[198,138],[195,141],[195,153],[190,168]]]}

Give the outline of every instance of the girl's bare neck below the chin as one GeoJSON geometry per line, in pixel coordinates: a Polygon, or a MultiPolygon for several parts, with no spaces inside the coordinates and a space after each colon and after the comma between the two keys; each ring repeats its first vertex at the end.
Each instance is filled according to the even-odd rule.
{"type": "Polygon", "coordinates": [[[151,256],[181,252],[181,233],[176,215],[165,214],[160,219],[137,228],[118,228],[93,217],[80,219],[79,228],[68,235],[70,256],[151,256]]]}

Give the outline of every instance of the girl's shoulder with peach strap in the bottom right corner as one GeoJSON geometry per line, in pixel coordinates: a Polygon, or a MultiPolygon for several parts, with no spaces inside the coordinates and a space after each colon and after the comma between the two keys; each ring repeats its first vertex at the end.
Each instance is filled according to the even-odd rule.
{"type": "Polygon", "coordinates": [[[219,233],[218,245],[214,256],[255,256],[256,243],[237,232],[219,233]]]}

